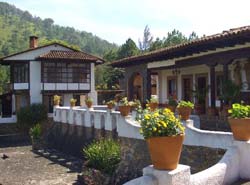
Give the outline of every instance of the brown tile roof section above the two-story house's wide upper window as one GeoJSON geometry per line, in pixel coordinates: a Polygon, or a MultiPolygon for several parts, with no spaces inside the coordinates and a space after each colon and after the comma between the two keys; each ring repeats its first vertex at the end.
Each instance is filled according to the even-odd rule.
{"type": "Polygon", "coordinates": [[[92,61],[103,63],[103,59],[95,57],[93,55],[81,52],[81,51],[62,51],[51,50],[48,53],[40,55],[37,60],[79,60],[79,61],[92,61]]]}

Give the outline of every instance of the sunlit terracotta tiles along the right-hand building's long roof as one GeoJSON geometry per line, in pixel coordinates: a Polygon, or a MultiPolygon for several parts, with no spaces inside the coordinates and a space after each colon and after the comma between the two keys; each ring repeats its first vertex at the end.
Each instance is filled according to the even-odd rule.
{"type": "MultiPolygon", "coordinates": [[[[204,36],[199,39],[185,42],[176,46],[161,48],[152,52],[147,52],[141,55],[131,56],[127,58],[123,58],[111,63],[112,66],[122,66],[124,64],[131,64],[132,62],[140,62],[142,60],[151,62],[154,57],[163,56],[168,58],[168,55],[171,56],[176,55],[178,57],[177,52],[184,52],[186,49],[195,48],[196,52],[200,52],[202,48],[201,46],[205,46],[206,44],[216,44],[221,41],[233,39],[236,37],[242,36],[243,38],[247,38],[250,40],[250,26],[243,26],[238,28],[233,28],[230,30],[223,31],[222,33],[204,36]]],[[[216,47],[216,46],[215,46],[216,47]]],[[[173,57],[172,57],[173,58],[173,57]]],[[[133,63],[134,64],[134,63],[133,63]]]]}

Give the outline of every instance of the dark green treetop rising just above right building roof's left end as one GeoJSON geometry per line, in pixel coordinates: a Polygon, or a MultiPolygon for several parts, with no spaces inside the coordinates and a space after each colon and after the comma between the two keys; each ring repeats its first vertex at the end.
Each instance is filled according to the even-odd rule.
{"type": "Polygon", "coordinates": [[[129,38],[126,43],[119,48],[117,52],[117,59],[134,56],[138,53],[139,49],[137,48],[135,42],[129,38]]]}

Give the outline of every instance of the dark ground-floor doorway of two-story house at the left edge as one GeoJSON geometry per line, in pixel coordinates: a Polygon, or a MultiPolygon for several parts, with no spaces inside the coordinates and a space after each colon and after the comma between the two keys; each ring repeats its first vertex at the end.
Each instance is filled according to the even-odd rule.
{"type": "Polygon", "coordinates": [[[0,96],[2,106],[2,117],[11,117],[12,115],[12,94],[3,94],[0,96]]]}

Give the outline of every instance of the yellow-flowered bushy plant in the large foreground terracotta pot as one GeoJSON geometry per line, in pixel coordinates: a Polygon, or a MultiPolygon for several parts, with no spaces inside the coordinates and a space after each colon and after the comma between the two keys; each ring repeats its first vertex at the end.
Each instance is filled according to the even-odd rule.
{"type": "Polygon", "coordinates": [[[184,126],[169,109],[157,109],[154,112],[145,109],[138,121],[141,124],[140,133],[145,139],[184,133],[184,126]]]}

